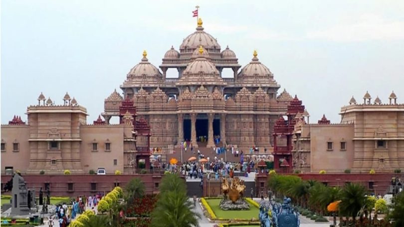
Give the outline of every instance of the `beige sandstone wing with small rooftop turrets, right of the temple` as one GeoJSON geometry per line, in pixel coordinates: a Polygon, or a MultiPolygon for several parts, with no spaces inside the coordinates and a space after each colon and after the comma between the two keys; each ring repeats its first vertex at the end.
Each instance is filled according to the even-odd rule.
{"type": "Polygon", "coordinates": [[[377,97],[364,103],[352,97],[341,108],[341,122],[331,124],[323,115],[317,124],[308,114],[297,117],[293,131],[293,168],[304,172],[393,172],[404,166],[404,104],[393,92],[389,103],[377,97]]]}

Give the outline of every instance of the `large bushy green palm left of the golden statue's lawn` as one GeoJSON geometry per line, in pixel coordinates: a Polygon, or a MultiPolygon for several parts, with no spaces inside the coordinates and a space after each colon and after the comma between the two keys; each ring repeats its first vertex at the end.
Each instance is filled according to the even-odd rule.
{"type": "Polygon", "coordinates": [[[186,184],[177,174],[166,174],[160,187],[159,200],[152,213],[153,227],[198,227],[199,214],[192,211],[186,184]]]}

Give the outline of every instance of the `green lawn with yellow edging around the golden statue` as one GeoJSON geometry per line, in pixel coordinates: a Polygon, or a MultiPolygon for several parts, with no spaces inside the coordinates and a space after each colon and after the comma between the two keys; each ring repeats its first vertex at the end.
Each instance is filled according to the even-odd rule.
{"type": "Polygon", "coordinates": [[[221,199],[207,199],[206,202],[217,218],[223,219],[258,219],[259,210],[250,204],[249,211],[223,211],[219,207],[221,199]]]}

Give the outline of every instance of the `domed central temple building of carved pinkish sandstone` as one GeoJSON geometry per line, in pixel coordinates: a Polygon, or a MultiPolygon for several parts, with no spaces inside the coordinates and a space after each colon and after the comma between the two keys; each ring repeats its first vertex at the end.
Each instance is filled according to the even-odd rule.
{"type": "Polygon", "coordinates": [[[277,96],[280,85],[259,62],[256,51],[238,72],[240,67],[234,52],[228,47],[221,51],[200,20],[180,52],[174,47],[167,51],[160,65],[163,73],[148,61],[145,51],[121,85],[124,98],[112,93],[102,115],[108,123],[123,99],[132,100],[137,114],[150,123],[152,147],[179,145],[184,140],[212,147],[217,136],[222,144],[272,147],[273,125],[292,97],[286,91],[277,96]],[[178,77],[167,78],[171,68],[178,77]],[[231,78],[222,77],[225,68],[232,70],[231,78]]]}

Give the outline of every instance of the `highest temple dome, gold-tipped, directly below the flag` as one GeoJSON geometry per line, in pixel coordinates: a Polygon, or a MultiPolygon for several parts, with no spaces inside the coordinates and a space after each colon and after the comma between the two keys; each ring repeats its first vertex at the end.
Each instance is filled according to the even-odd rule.
{"type": "Polygon", "coordinates": [[[220,50],[220,45],[217,40],[210,34],[203,31],[202,19],[198,20],[197,31],[187,36],[180,46],[180,52],[186,52],[185,49],[195,50],[203,46],[209,52],[215,52],[214,50],[220,50]]]}

